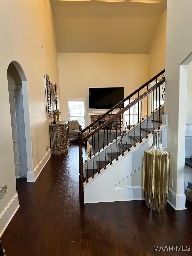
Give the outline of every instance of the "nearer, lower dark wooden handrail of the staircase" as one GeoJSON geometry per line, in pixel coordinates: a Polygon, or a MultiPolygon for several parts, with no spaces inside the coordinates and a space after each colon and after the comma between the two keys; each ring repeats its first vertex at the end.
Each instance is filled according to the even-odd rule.
{"type": "MultiPolygon", "coordinates": [[[[160,85],[162,85],[165,82],[165,77],[163,77],[158,83],[156,83],[153,87],[151,87],[150,89],[148,89],[146,92],[144,92],[142,95],[140,95],[137,99],[135,99],[134,101],[132,101],[129,105],[127,105],[126,107],[122,108],[119,112],[117,112],[115,115],[113,115],[112,117],[110,117],[108,120],[106,120],[104,123],[102,123],[100,126],[98,126],[97,128],[95,128],[93,131],[91,131],[89,134],[87,134],[85,137],[82,138],[82,143],[85,142],[86,140],[88,140],[89,138],[91,138],[94,134],[96,134],[98,131],[100,131],[102,128],[104,128],[107,124],[109,124],[110,122],[112,122],[113,120],[115,120],[116,118],[118,118],[121,114],[123,114],[125,111],[127,111],[129,108],[131,108],[132,106],[134,106],[137,102],[139,102],[140,100],[142,100],[145,96],[147,96],[148,94],[150,94],[152,91],[154,91],[155,89],[157,89],[160,85]]],[[[81,131],[80,131],[81,132],[81,131]]],[[[82,130],[83,132],[83,130],[82,130]]],[[[78,141],[78,144],[80,142],[78,141]]],[[[79,144],[80,145],[80,144],[79,144]]]]}

